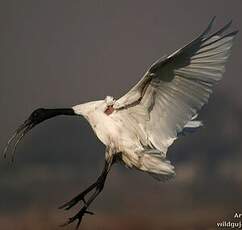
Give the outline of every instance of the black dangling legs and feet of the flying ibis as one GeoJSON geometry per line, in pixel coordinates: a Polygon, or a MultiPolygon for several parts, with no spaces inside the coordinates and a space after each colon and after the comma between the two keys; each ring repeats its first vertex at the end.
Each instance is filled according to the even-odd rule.
{"type": "Polygon", "coordinates": [[[72,208],[74,205],[76,205],[80,200],[82,200],[84,202],[84,206],[80,209],[80,211],[73,217],[69,218],[69,220],[66,223],[64,223],[62,226],[66,226],[66,225],[74,222],[75,220],[78,220],[77,225],[76,225],[76,229],[78,229],[78,227],[81,223],[82,217],[85,214],[93,215],[93,213],[88,211],[87,208],[96,199],[96,197],[99,195],[99,193],[103,190],[105,180],[107,178],[108,172],[111,169],[112,163],[113,163],[112,157],[106,159],[103,171],[102,171],[101,175],[98,177],[97,181],[95,183],[93,183],[91,186],[89,186],[86,190],[84,190],[83,192],[78,194],[76,197],[74,197],[71,201],[65,203],[64,205],[62,205],[60,207],[60,208],[65,208],[66,210],[68,210],[68,209],[72,208]],[[89,192],[91,192],[93,189],[95,189],[93,194],[86,200],[85,196],[89,192]]]}

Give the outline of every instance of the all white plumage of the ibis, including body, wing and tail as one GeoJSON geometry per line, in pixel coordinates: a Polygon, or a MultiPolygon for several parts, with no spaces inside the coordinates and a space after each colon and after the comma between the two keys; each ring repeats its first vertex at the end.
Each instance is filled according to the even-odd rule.
{"type": "Polygon", "coordinates": [[[107,97],[74,107],[113,154],[120,153],[127,166],[158,179],[175,174],[165,158],[167,149],[184,128],[202,125],[194,119],[208,101],[214,83],[222,78],[236,34],[223,35],[229,23],[208,35],[212,22],[191,43],[155,62],[120,99],[107,97]],[[110,105],[114,110],[106,115],[110,105]]]}

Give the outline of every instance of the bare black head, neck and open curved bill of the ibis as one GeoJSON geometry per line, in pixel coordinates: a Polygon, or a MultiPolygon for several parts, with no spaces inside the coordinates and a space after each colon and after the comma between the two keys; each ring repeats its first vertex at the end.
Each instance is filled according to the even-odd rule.
{"type": "MultiPolygon", "coordinates": [[[[39,108],[34,110],[29,118],[25,120],[25,122],[18,127],[14,135],[9,139],[5,149],[4,149],[4,157],[6,157],[6,153],[8,150],[9,145],[11,142],[17,138],[15,144],[14,144],[14,149],[13,149],[13,156],[14,152],[16,150],[16,147],[18,143],[22,140],[22,138],[27,134],[34,126],[37,124],[50,119],[52,117],[58,116],[58,115],[76,115],[74,113],[74,110],[72,108],[65,108],[65,109],[44,109],[44,108],[39,108]]],[[[12,157],[13,160],[13,157],[12,157]]]]}

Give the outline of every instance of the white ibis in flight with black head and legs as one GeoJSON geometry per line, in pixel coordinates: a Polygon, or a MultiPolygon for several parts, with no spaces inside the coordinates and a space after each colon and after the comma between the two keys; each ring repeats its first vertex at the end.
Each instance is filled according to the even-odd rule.
{"type": "Polygon", "coordinates": [[[67,108],[38,108],[20,125],[3,151],[6,158],[36,125],[59,115],[84,117],[106,146],[105,163],[97,180],[59,208],[79,211],[62,225],[76,222],[76,229],[92,202],[104,188],[114,163],[148,173],[158,181],[175,177],[167,157],[169,146],[187,132],[203,125],[198,112],[208,102],[213,86],[221,80],[238,30],[227,32],[232,21],[211,32],[215,17],[190,43],[154,62],[122,97],[107,96],[67,108]],[[14,144],[13,144],[14,143],[14,144]]]}

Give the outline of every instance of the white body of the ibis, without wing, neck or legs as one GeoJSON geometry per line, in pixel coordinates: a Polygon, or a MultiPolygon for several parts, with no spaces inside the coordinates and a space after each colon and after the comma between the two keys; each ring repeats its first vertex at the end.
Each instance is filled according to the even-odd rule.
{"type": "MultiPolygon", "coordinates": [[[[115,101],[113,102],[115,104],[115,101]]],[[[118,159],[131,168],[135,167],[151,174],[160,172],[162,175],[174,175],[173,166],[165,160],[164,154],[148,146],[147,134],[141,126],[136,125],[132,114],[127,117],[123,111],[114,110],[111,114],[105,112],[114,104],[99,100],[74,106],[73,109],[89,122],[100,141],[108,149],[112,149],[106,154],[112,154],[114,157],[117,155],[118,159]]],[[[143,116],[148,119],[148,114],[143,116]]]]}

